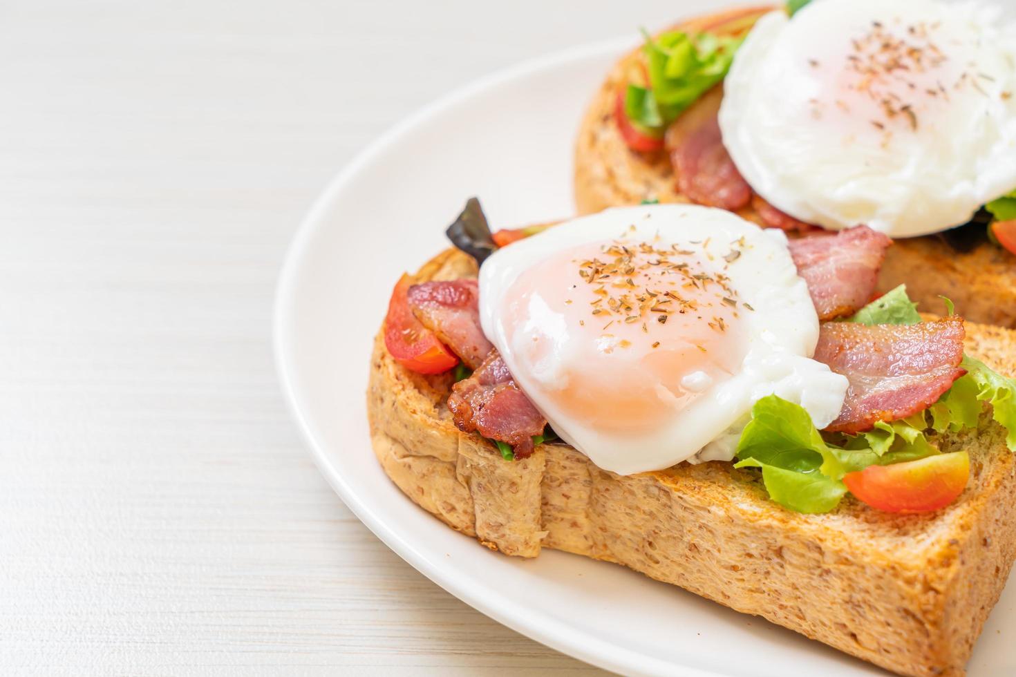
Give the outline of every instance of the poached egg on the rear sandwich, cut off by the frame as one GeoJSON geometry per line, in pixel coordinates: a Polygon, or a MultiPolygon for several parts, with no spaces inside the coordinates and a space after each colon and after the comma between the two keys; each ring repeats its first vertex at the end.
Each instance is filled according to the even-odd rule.
{"type": "Polygon", "coordinates": [[[943,230],[1016,188],[1016,24],[943,0],[813,0],[763,16],[719,125],[787,214],[894,238],[943,230]]]}

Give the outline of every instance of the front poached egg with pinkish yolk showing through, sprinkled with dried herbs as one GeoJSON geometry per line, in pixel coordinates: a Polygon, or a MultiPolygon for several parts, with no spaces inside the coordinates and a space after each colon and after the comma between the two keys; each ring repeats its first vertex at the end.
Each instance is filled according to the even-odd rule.
{"type": "Polygon", "coordinates": [[[620,474],[731,460],[755,401],[839,413],[811,359],[819,321],[785,235],[691,205],[610,209],[495,252],[480,314],[532,403],[620,474]]]}

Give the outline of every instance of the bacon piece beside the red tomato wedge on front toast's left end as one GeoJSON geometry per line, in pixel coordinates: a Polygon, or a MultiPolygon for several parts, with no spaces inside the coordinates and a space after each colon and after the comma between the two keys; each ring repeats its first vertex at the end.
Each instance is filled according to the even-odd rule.
{"type": "Polygon", "coordinates": [[[409,287],[406,297],[417,319],[442,343],[474,369],[494,349],[480,327],[477,280],[424,282],[409,287]]]}

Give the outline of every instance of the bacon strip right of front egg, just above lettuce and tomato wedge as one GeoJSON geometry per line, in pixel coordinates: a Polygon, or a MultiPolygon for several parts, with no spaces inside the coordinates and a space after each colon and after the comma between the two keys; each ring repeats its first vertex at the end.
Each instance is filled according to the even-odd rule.
{"type": "Polygon", "coordinates": [[[856,433],[876,421],[906,418],[935,404],[966,374],[963,320],[949,317],[917,325],[826,322],[815,359],[850,382],[846,400],[826,430],[856,433]]]}

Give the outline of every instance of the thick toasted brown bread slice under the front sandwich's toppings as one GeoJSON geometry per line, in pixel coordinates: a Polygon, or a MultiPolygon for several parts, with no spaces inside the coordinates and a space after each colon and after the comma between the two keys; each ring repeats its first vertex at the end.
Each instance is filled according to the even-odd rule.
{"type": "MultiPolygon", "coordinates": [[[[455,250],[420,281],[474,276],[455,250]]],[[[967,351],[1016,369],[1016,332],[967,324],[967,351]]],[[[970,479],[932,514],[880,513],[852,497],[827,515],[769,500],[731,463],[680,464],[621,476],[564,444],[505,462],[460,432],[450,375],[421,376],[374,345],[367,394],[382,467],[449,527],[505,554],[542,548],[624,564],[738,611],[757,614],[902,675],[962,675],[1016,556],[1016,475],[1004,430],[940,438],[966,449],[970,479]]]]}

